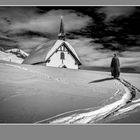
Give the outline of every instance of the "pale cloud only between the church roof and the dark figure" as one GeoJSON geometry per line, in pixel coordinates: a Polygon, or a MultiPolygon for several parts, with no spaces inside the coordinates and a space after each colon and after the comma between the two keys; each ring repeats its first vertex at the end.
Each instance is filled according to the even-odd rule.
{"type": "Polygon", "coordinates": [[[101,44],[91,43],[91,38],[80,38],[68,40],[72,46],[74,46],[76,52],[80,56],[83,65],[88,66],[108,66],[110,63],[100,63],[100,60],[106,60],[113,55],[110,50],[97,50],[101,48],[101,44]]]}

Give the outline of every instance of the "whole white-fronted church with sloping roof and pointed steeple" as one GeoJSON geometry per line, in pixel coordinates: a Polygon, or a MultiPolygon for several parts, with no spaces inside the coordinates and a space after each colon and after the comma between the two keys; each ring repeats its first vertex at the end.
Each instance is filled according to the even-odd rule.
{"type": "Polygon", "coordinates": [[[47,41],[36,47],[25,58],[23,64],[79,69],[80,59],[74,48],[66,41],[63,17],[61,17],[58,39],[47,41]]]}

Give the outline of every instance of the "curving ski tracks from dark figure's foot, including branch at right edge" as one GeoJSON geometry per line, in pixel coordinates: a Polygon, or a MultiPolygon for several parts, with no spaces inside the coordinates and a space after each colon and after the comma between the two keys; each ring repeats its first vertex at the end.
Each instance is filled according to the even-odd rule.
{"type": "MultiPolygon", "coordinates": [[[[138,106],[140,106],[140,103],[137,103],[137,102],[140,102],[140,99],[138,99],[138,100],[132,101],[133,103],[137,103],[137,104],[131,105],[127,108],[123,108],[129,101],[131,102],[131,98],[132,98],[131,91],[132,90],[134,91],[134,89],[133,89],[134,86],[123,79],[116,80],[116,82],[118,82],[118,84],[122,84],[122,86],[124,87],[124,90],[125,90],[125,94],[122,96],[122,98],[120,100],[115,101],[114,103],[106,105],[95,111],[73,114],[73,115],[70,115],[67,117],[61,117],[61,115],[59,115],[58,119],[54,119],[50,122],[49,122],[49,119],[46,119],[44,121],[48,121],[49,124],[91,124],[91,123],[96,123],[97,121],[102,120],[102,119],[110,116],[111,114],[119,115],[119,114],[133,110],[133,109],[137,108],[138,106]]],[[[135,89],[137,89],[137,88],[135,88],[135,89]]],[[[50,118],[50,119],[52,119],[52,118],[50,118]]],[[[43,121],[40,121],[39,123],[41,123],[41,122],[43,122],[43,121]]]]}

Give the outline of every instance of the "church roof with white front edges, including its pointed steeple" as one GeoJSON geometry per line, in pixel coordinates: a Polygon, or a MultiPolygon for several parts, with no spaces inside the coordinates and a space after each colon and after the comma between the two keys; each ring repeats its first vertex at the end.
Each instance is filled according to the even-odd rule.
{"type": "Polygon", "coordinates": [[[31,54],[23,61],[23,63],[24,64],[45,63],[53,55],[53,53],[55,53],[57,49],[62,45],[64,45],[69,50],[74,59],[78,62],[79,65],[81,65],[80,59],[77,53],[75,52],[74,48],[67,41],[65,41],[64,25],[62,18],[58,39],[47,41],[36,47],[31,52],[31,54]]]}

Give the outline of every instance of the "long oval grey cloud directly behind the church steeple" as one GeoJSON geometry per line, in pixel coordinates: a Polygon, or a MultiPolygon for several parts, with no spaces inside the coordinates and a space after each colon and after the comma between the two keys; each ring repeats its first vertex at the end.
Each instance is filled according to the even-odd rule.
{"type": "Polygon", "coordinates": [[[21,30],[30,30],[43,33],[58,33],[60,25],[60,16],[64,17],[66,31],[80,30],[88,25],[91,18],[73,10],[51,10],[45,14],[30,18],[26,22],[15,22],[10,25],[14,32],[21,30]]]}

